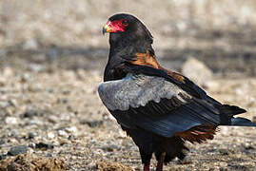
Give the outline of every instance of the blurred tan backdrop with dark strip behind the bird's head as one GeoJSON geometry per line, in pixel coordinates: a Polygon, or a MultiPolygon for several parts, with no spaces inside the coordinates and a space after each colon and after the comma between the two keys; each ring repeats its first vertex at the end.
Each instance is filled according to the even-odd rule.
{"type": "Polygon", "coordinates": [[[171,61],[168,67],[178,69],[192,56],[214,72],[256,73],[253,0],[3,0],[0,7],[1,59],[19,54],[33,63],[68,57],[76,62],[59,65],[103,68],[108,37],[101,28],[112,14],[128,12],[149,28],[157,56],[171,61]]]}

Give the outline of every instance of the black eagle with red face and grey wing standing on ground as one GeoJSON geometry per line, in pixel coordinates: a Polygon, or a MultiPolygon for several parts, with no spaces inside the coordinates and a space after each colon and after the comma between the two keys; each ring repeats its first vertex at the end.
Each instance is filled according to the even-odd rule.
{"type": "Polygon", "coordinates": [[[183,160],[185,142],[212,140],[219,125],[256,126],[234,117],[245,109],[221,104],[186,76],[160,66],[153,37],[137,17],[114,14],[102,31],[109,33],[109,54],[98,94],[138,146],[144,171],[152,155],[156,171],[175,158],[183,160]]]}

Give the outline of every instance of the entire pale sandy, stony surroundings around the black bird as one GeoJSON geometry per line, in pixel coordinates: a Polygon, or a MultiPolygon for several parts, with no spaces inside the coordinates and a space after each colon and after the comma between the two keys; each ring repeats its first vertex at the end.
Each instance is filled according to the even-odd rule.
{"type": "MultiPolygon", "coordinates": [[[[255,0],[0,0],[0,161],[12,159],[11,147],[22,144],[31,159],[61,158],[69,170],[104,170],[111,164],[105,161],[140,168],[136,146],[97,95],[108,60],[102,27],[118,12],[148,27],[160,64],[222,103],[245,107],[245,116],[256,120],[255,0]]],[[[200,154],[196,164],[173,162],[168,168],[210,169],[212,162],[231,170],[254,168],[255,129],[223,128],[220,135],[192,148],[200,154]],[[226,134],[232,137],[226,140],[226,134]],[[206,156],[214,155],[213,146],[229,149],[232,141],[245,163],[235,161],[234,151],[219,161],[223,153],[216,147],[215,161],[206,156]]]]}

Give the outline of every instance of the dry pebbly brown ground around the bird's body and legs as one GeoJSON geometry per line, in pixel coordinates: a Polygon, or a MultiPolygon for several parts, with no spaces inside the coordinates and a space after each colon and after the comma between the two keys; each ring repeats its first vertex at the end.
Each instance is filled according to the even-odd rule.
{"type": "MultiPolygon", "coordinates": [[[[10,156],[10,147],[25,145],[29,158],[34,155],[59,160],[60,164],[64,161],[62,169],[141,168],[137,147],[99,100],[97,85],[102,82],[99,70],[40,65],[44,69],[38,71],[39,66],[31,67],[25,62],[23,66],[1,68],[0,155],[5,159],[1,164],[16,158],[10,156]],[[40,147],[40,143],[44,145],[40,147]]],[[[245,116],[252,119],[256,113],[255,87],[253,77],[228,79],[214,75],[207,92],[223,103],[245,107],[248,110],[245,116]]],[[[255,128],[220,128],[213,141],[188,143],[186,162],[172,161],[166,169],[254,170],[255,128]]]]}

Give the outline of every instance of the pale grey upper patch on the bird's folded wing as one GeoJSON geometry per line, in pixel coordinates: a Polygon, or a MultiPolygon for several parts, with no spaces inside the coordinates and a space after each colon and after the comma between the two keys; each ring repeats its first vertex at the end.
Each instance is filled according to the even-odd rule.
{"type": "MultiPolygon", "coordinates": [[[[99,96],[109,110],[128,110],[129,107],[145,106],[161,99],[178,98],[186,103],[179,93],[187,94],[181,88],[161,77],[128,74],[124,79],[99,85],[99,96]]],[[[187,95],[189,96],[189,95],[187,95]]]]}

